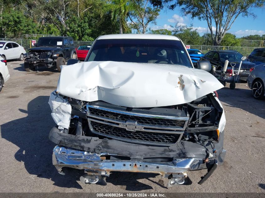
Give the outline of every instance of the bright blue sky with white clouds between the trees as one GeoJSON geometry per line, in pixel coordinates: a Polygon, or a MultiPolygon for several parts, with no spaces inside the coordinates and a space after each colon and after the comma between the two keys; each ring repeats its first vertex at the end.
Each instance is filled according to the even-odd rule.
{"type": "MultiPolygon", "coordinates": [[[[265,34],[265,8],[255,8],[253,9],[253,12],[257,15],[256,18],[239,16],[228,32],[235,34],[236,37],[247,36],[250,34],[265,34]]],[[[200,35],[207,32],[206,21],[199,21],[197,18],[191,19],[188,16],[183,16],[180,8],[175,8],[174,11],[162,10],[156,22],[156,25],[150,25],[151,29],[165,28],[172,30],[170,25],[174,27],[176,22],[179,22],[180,24],[188,26],[192,23],[193,27],[197,28],[197,32],[199,32],[200,35]]]]}

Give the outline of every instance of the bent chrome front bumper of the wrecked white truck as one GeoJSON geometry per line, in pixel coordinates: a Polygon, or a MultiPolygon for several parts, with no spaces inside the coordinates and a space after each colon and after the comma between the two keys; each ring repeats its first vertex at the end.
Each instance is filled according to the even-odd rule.
{"type": "Polygon", "coordinates": [[[157,173],[166,177],[172,173],[186,173],[189,170],[201,170],[209,168],[209,164],[218,162],[221,165],[225,158],[226,150],[215,159],[209,159],[208,163],[203,163],[203,159],[179,158],[172,162],[140,162],[135,160],[102,160],[101,155],[113,155],[108,153],[90,153],[86,151],[74,150],[63,146],[56,146],[53,149],[52,162],[60,173],[62,167],[84,169],[85,172],[93,172],[98,175],[109,176],[111,171],[157,173]]]}

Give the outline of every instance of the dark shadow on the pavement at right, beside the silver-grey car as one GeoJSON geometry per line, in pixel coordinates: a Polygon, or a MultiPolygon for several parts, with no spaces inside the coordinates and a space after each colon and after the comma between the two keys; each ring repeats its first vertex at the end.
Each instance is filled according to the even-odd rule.
{"type": "Polygon", "coordinates": [[[252,97],[251,89],[236,88],[232,90],[228,87],[224,87],[217,90],[217,93],[219,95],[219,100],[228,104],[224,104],[225,106],[233,106],[243,109],[265,119],[265,99],[254,99],[252,97]]]}

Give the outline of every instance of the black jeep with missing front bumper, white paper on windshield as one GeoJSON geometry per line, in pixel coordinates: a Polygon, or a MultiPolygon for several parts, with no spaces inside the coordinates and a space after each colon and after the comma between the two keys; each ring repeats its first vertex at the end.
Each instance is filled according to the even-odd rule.
{"type": "Polygon", "coordinates": [[[34,71],[35,67],[45,66],[57,68],[66,65],[66,61],[75,58],[77,53],[72,37],[41,37],[35,48],[30,48],[25,54],[24,68],[26,71],[34,71]]]}

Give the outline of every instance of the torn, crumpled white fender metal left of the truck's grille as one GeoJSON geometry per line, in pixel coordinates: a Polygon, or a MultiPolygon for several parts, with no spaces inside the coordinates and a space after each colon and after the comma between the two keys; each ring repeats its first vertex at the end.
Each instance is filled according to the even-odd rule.
{"type": "Polygon", "coordinates": [[[51,108],[51,116],[58,129],[68,129],[70,125],[72,107],[67,99],[63,99],[60,94],[52,92],[50,94],[49,104],[51,108]]]}

